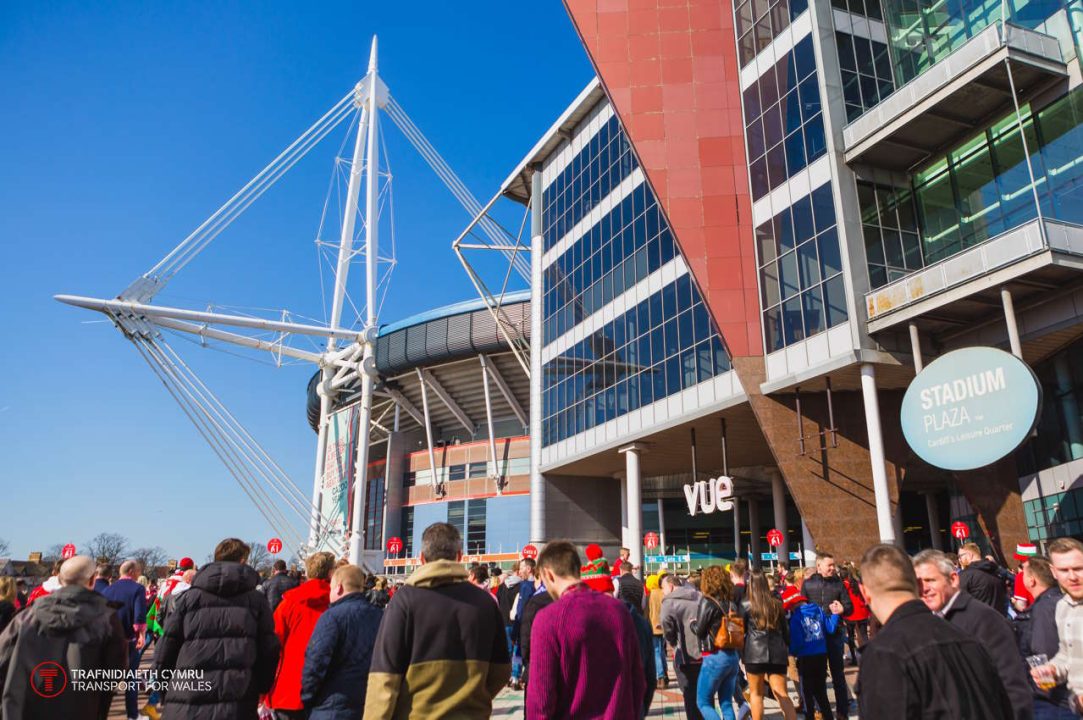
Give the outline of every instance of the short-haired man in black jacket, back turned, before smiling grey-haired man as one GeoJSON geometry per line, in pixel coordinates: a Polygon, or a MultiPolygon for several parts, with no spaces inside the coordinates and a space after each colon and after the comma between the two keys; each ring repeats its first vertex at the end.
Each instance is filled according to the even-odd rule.
{"type": "Polygon", "coordinates": [[[892,545],[873,546],[861,559],[861,579],[869,607],[883,624],[861,656],[862,718],[1013,720],[989,653],[918,600],[906,553],[892,545]]]}

